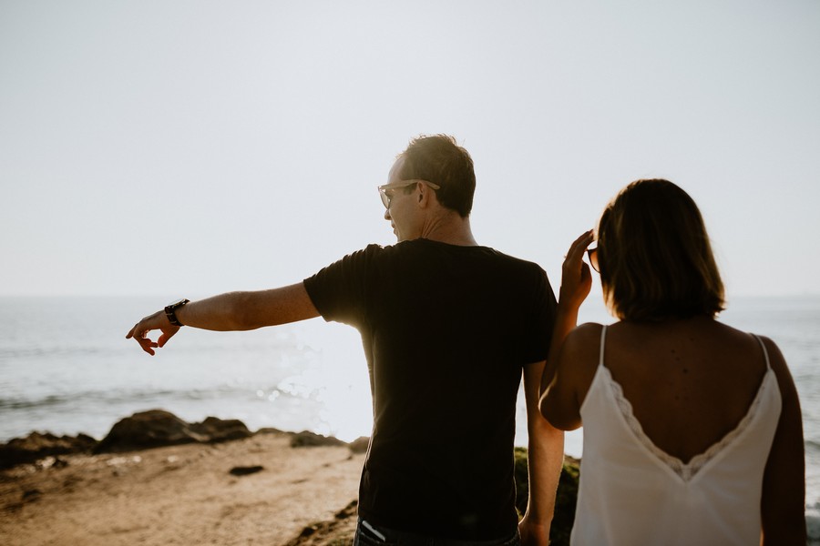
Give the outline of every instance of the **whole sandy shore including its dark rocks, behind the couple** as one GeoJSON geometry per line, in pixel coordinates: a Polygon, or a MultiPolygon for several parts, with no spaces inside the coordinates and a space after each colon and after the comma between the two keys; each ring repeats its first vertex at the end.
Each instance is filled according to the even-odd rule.
{"type": "MultiPolygon", "coordinates": [[[[32,432],[0,444],[0,544],[350,544],[366,448],[165,410],[119,420],[102,440],[32,432]]],[[[511,455],[523,513],[527,450],[511,455]]],[[[565,458],[555,544],[569,540],[578,477],[565,458]]]]}

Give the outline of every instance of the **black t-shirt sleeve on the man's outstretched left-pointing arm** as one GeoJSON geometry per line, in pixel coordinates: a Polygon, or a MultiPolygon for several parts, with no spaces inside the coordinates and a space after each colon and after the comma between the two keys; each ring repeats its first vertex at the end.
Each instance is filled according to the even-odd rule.
{"type": "Polygon", "coordinates": [[[379,249],[370,245],[304,279],[304,288],[323,319],[353,326],[364,321],[370,285],[368,265],[379,249]]]}

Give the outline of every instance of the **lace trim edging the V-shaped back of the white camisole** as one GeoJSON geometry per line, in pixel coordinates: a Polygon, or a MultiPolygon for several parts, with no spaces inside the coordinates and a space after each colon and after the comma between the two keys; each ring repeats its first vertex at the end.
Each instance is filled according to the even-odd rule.
{"type": "MultiPolygon", "coordinates": [[[[602,334],[601,338],[603,338],[604,335],[605,334],[602,334]]],[[[601,339],[601,341],[603,341],[603,339],[601,339]]],[[[759,338],[758,341],[760,341],[759,338]]],[[[603,343],[601,343],[600,367],[606,373],[606,379],[612,387],[612,392],[615,395],[615,401],[618,404],[620,413],[627,421],[627,424],[629,425],[630,430],[635,434],[635,437],[641,442],[641,444],[643,444],[648,450],[650,450],[650,452],[655,457],[661,460],[663,464],[667,465],[675,474],[677,474],[681,478],[681,480],[690,481],[697,475],[698,472],[702,470],[706,463],[714,459],[714,457],[718,453],[720,453],[729,444],[731,444],[738,436],[740,436],[743,433],[743,430],[746,430],[746,428],[748,428],[749,424],[751,423],[754,417],[754,414],[757,413],[757,408],[758,406],[760,406],[760,402],[763,399],[763,392],[766,385],[766,381],[769,378],[769,374],[772,373],[772,369],[769,365],[769,355],[766,352],[765,346],[763,345],[762,341],[761,346],[764,349],[764,355],[766,358],[766,373],[764,373],[764,379],[761,382],[760,388],[757,389],[757,394],[755,395],[752,404],[749,406],[749,410],[746,411],[746,415],[743,416],[743,420],[741,420],[740,423],[738,423],[737,427],[735,427],[734,430],[727,433],[723,437],[723,439],[713,443],[708,450],[705,450],[704,452],[692,457],[692,460],[690,460],[688,463],[684,463],[677,457],[674,457],[666,451],[661,450],[661,448],[656,446],[654,442],[650,439],[650,437],[646,435],[646,432],[643,431],[641,421],[639,421],[632,413],[632,404],[630,403],[630,400],[624,397],[623,389],[621,388],[620,383],[612,377],[610,369],[603,365],[603,343]]]]}

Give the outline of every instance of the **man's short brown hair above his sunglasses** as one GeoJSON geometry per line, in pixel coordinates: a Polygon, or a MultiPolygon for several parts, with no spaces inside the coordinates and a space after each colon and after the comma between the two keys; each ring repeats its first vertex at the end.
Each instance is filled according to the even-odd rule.
{"type": "Polygon", "coordinates": [[[476,193],[476,172],[473,158],[466,149],[447,135],[417,136],[404,152],[405,163],[399,173],[403,180],[419,178],[441,187],[436,197],[442,206],[468,217],[476,193]]]}

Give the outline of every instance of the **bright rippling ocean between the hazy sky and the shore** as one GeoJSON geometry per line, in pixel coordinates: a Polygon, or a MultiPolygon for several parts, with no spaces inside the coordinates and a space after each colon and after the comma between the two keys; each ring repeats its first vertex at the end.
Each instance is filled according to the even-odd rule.
{"type": "MultiPolygon", "coordinates": [[[[239,419],[251,430],[369,435],[354,329],[322,319],[250,332],[182,329],[150,357],[125,336],[166,299],[0,298],[0,441],[33,430],[102,439],[118,420],[151,409],[239,419]]],[[[803,409],[806,517],[820,541],[820,296],[732,298],[720,319],[774,339],[789,363],[803,409]]],[[[594,295],[579,320],[613,321],[594,295]]],[[[516,442],[526,445],[519,399],[516,442]]],[[[568,434],[569,455],[582,455],[582,435],[568,434]]]]}

